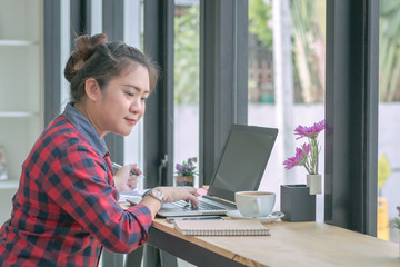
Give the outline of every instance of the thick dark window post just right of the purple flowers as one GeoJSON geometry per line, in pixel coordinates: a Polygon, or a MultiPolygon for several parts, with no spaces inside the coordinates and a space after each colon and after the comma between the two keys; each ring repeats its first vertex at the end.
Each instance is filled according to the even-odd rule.
{"type": "Polygon", "coordinates": [[[377,235],[379,1],[327,1],[326,222],[377,235]]]}

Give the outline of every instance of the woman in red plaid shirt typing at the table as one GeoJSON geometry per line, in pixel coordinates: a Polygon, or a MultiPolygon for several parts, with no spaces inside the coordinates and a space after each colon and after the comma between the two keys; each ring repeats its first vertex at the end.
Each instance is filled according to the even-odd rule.
{"type": "Polygon", "coordinates": [[[191,187],[159,187],[122,209],[118,191],[136,187],[133,165],[113,177],[103,137],[127,136],[143,116],[158,68],[106,34],[76,39],[67,62],[72,102],[23,162],[11,219],[0,230],[0,266],[97,266],[102,247],[129,253],[144,244],[162,201],[198,205],[191,187]]]}

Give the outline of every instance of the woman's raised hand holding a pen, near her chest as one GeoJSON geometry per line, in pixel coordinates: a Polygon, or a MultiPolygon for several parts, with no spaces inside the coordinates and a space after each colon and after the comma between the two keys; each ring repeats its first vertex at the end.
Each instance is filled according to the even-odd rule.
{"type": "Polygon", "coordinates": [[[131,191],[138,186],[138,176],[131,175],[131,171],[142,174],[136,165],[126,165],[114,175],[116,188],[119,192],[131,191]]]}

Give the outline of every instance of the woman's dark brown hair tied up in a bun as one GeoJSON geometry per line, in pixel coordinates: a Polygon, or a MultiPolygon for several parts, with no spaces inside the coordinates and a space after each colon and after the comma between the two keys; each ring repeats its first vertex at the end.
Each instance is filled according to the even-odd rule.
{"type": "Polygon", "coordinates": [[[74,102],[86,96],[84,81],[93,78],[103,89],[114,77],[122,73],[129,65],[147,68],[150,78],[150,92],[154,90],[159,67],[138,49],[122,41],[107,42],[104,33],[80,36],[74,40],[76,50],[71,53],[64,69],[64,77],[71,85],[74,102]]]}

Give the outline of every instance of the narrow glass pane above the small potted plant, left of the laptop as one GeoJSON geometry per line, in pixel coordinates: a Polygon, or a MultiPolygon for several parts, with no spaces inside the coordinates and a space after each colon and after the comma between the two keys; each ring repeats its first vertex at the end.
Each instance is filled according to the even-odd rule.
{"type": "MultiPolygon", "coordinates": [[[[174,162],[199,158],[199,1],[176,0],[174,10],[174,162]]],[[[198,170],[199,161],[194,162],[198,170]]],[[[198,186],[198,176],[194,185],[198,186]]]]}

